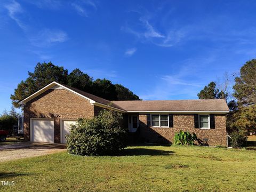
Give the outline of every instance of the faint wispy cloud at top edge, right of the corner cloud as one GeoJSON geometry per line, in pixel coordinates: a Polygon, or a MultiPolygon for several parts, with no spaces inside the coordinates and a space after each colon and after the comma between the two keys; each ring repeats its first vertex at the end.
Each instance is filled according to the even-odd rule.
{"type": "Polygon", "coordinates": [[[71,3],[71,6],[73,6],[79,15],[84,17],[89,17],[91,8],[93,8],[94,11],[98,9],[95,3],[90,0],[75,1],[71,3]]]}

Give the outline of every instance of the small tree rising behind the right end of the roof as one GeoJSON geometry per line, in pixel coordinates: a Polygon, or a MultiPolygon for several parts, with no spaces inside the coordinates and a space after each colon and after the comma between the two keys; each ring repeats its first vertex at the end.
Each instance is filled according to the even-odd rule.
{"type": "Polygon", "coordinates": [[[219,91],[216,87],[216,83],[210,82],[197,94],[199,99],[226,99],[227,93],[219,91]]]}

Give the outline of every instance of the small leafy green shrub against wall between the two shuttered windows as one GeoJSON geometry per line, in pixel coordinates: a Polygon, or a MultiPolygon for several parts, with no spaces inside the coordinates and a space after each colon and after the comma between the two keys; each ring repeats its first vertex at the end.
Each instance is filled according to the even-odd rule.
{"type": "Polygon", "coordinates": [[[179,133],[174,135],[174,144],[175,145],[194,145],[195,140],[197,140],[196,134],[190,134],[189,131],[184,132],[180,130],[179,133]]]}

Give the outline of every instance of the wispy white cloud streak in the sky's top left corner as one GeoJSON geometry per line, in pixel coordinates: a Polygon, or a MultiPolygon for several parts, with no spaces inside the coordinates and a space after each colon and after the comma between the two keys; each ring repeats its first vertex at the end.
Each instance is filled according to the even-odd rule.
{"type": "Polygon", "coordinates": [[[18,18],[18,14],[23,13],[23,9],[20,4],[16,1],[12,1],[12,3],[6,4],[5,8],[7,9],[10,18],[13,19],[20,28],[26,30],[25,24],[18,18]]]}

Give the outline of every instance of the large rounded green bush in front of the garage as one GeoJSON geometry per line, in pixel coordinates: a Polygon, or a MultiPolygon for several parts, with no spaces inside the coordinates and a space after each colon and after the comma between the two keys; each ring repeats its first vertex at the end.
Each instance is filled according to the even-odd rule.
{"type": "Polygon", "coordinates": [[[117,155],[126,147],[126,130],[120,126],[122,114],[102,110],[91,119],[80,118],[71,125],[67,149],[77,155],[117,155]]]}

